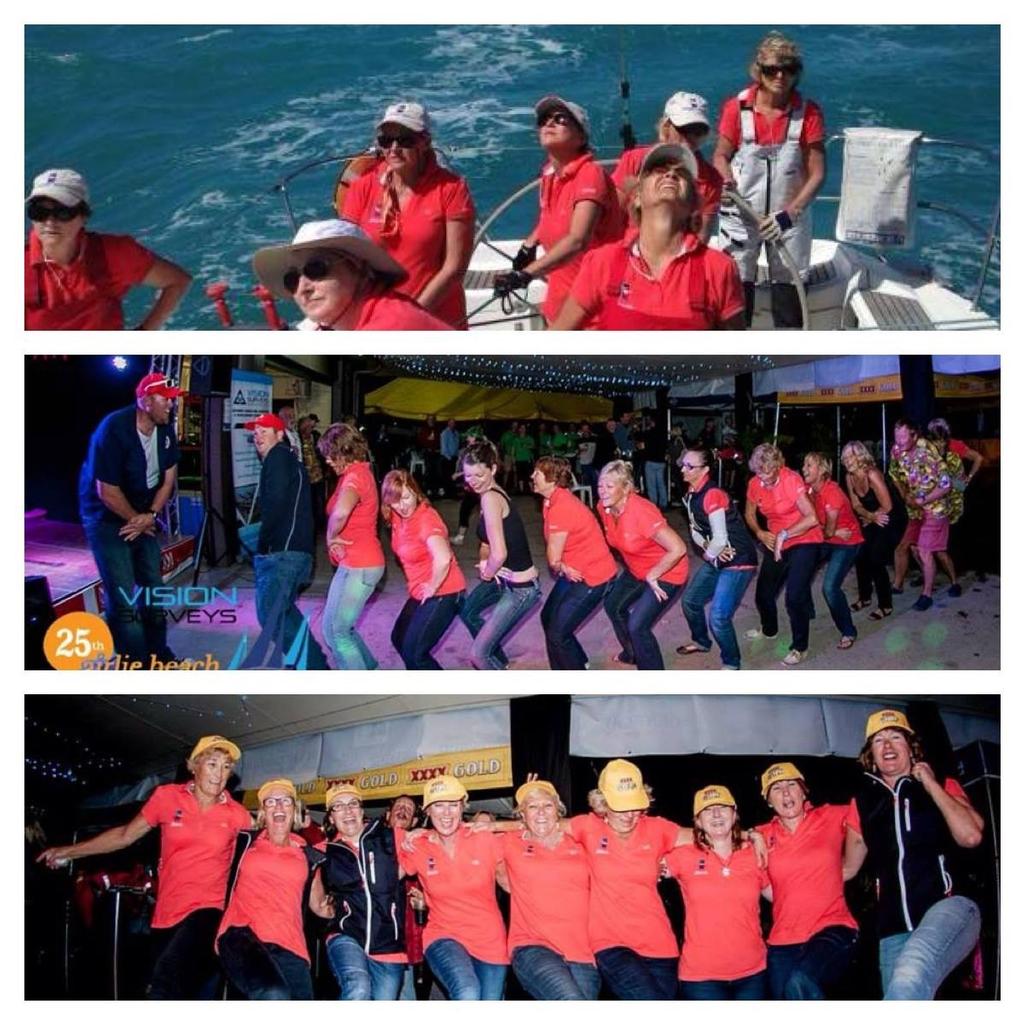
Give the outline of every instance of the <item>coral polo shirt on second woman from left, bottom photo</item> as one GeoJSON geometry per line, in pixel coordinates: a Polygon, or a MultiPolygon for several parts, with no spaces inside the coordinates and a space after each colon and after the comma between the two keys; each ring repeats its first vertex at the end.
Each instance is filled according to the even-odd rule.
{"type": "Polygon", "coordinates": [[[266,833],[253,840],[242,855],[217,942],[228,928],[251,928],[260,942],[272,942],[309,963],[302,933],[302,897],[309,879],[305,845],[294,834],[285,846],[271,843],[266,833]]]}

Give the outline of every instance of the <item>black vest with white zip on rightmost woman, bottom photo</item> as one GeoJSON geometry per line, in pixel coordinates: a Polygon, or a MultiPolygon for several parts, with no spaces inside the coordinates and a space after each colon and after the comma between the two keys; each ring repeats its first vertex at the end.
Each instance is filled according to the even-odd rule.
{"type": "Polygon", "coordinates": [[[879,891],[879,937],[911,932],[953,889],[954,841],[942,812],[925,787],[904,775],[890,790],[864,773],[857,795],[868,869],[879,891]]]}

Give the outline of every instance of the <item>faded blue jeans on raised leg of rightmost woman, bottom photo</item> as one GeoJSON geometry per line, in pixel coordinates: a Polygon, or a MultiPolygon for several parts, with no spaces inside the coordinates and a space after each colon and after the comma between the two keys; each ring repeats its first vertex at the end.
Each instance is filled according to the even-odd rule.
{"type": "Polygon", "coordinates": [[[970,955],[981,934],[981,911],[966,896],[932,906],[912,932],[879,944],[885,999],[934,999],[950,971],[970,955]]]}

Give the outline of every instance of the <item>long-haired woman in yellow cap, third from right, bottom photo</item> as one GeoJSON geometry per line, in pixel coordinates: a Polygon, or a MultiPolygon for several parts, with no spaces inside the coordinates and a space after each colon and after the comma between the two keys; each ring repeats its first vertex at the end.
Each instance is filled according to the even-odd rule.
{"type": "Polygon", "coordinates": [[[761,896],[768,874],[744,842],[736,801],[724,785],[693,797],[691,846],[665,859],[686,907],[679,987],[684,999],[763,999],[767,995],[761,896]]]}

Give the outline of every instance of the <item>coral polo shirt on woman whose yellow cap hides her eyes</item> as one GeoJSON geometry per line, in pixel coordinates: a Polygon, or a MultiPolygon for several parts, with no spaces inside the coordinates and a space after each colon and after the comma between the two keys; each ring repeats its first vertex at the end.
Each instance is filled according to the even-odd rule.
{"type": "Polygon", "coordinates": [[[590,867],[588,931],[594,952],[626,946],[641,956],[676,956],[679,946],[657,893],[658,861],[675,845],[679,825],[644,816],[624,840],[596,814],[568,820],[569,835],[590,867]]]}

